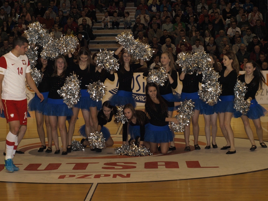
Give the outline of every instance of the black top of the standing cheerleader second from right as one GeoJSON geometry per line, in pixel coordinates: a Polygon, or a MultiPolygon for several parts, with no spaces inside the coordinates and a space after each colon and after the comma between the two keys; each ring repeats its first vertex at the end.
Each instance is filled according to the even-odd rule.
{"type": "Polygon", "coordinates": [[[234,86],[236,84],[237,80],[237,74],[236,71],[233,70],[229,72],[229,74],[225,77],[224,71],[226,67],[224,66],[222,71],[220,71],[220,78],[219,82],[221,85],[221,96],[233,96],[234,95],[234,86]]]}

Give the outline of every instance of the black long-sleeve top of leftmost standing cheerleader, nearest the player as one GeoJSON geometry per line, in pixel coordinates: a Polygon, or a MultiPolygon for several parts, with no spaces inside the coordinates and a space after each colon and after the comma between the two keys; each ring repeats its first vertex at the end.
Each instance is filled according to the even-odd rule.
{"type": "MultiPolygon", "coordinates": [[[[42,65],[37,64],[35,67],[42,72],[42,65]]],[[[49,78],[52,75],[53,71],[54,71],[53,62],[51,60],[48,60],[48,65],[45,68],[45,71],[42,72],[43,73],[42,82],[40,82],[37,87],[39,92],[43,93],[49,91],[49,78]]]]}

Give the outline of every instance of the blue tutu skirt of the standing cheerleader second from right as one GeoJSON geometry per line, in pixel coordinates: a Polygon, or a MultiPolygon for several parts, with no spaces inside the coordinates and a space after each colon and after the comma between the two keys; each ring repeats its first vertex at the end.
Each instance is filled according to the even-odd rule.
{"type": "Polygon", "coordinates": [[[221,101],[216,104],[216,112],[235,112],[234,109],[234,96],[220,96],[221,101]]]}

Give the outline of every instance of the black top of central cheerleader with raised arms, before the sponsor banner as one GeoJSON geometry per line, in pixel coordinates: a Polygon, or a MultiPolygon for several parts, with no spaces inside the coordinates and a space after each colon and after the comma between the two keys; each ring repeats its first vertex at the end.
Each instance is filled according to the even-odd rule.
{"type": "MultiPolygon", "coordinates": [[[[118,59],[118,55],[114,54],[114,57],[118,59]]],[[[120,68],[117,71],[117,76],[118,76],[118,81],[119,81],[118,90],[132,91],[131,83],[132,83],[133,71],[135,69],[142,67],[142,65],[140,65],[139,63],[129,64],[129,71],[126,71],[124,68],[123,74],[120,72],[121,67],[124,68],[124,66],[120,66],[120,68]]]]}

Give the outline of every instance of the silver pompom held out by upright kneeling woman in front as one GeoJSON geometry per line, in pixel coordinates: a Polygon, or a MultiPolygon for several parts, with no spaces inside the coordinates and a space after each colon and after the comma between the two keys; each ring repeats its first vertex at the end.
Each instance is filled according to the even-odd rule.
{"type": "Polygon", "coordinates": [[[185,100],[181,103],[178,114],[175,118],[179,121],[179,124],[171,122],[170,129],[174,132],[183,132],[185,126],[188,126],[191,120],[191,116],[194,114],[194,102],[192,100],[185,100]]]}

